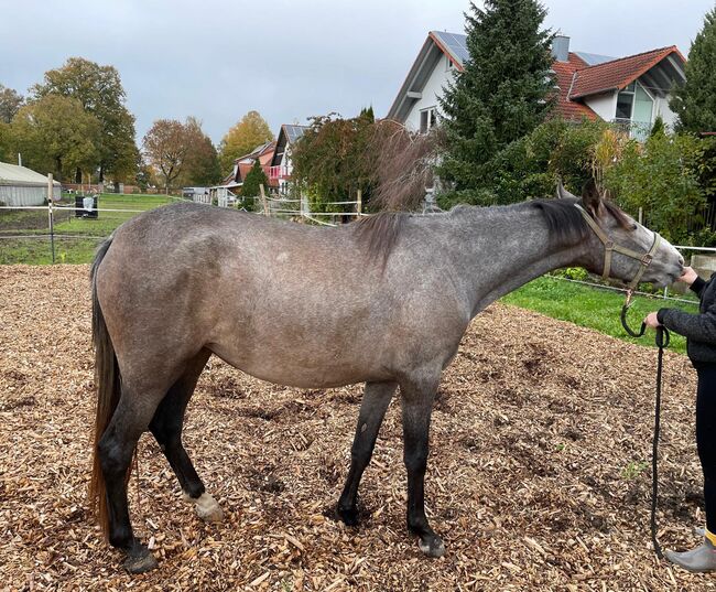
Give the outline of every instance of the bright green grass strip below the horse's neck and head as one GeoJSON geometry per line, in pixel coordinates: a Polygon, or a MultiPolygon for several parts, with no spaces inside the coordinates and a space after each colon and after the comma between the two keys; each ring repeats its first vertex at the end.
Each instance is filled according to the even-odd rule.
{"type": "MultiPolygon", "coordinates": [[[[652,330],[647,330],[647,334],[640,340],[627,335],[619,320],[623,300],[625,295],[621,292],[599,290],[545,276],[507,294],[501,302],[541,312],[553,319],[569,321],[581,326],[596,329],[623,341],[655,347],[652,330]]],[[[629,310],[630,326],[638,330],[647,313],[661,308],[677,308],[687,312],[698,311],[696,303],[688,304],[661,298],[637,297],[634,304],[629,310]]],[[[672,334],[669,347],[686,353],[686,340],[681,335],[672,334]]]]}

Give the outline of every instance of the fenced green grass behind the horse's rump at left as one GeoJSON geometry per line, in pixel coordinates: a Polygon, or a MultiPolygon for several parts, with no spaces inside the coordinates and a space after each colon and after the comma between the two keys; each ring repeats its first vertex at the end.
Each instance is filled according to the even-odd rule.
{"type": "MultiPolygon", "coordinates": [[[[88,263],[102,238],[115,228],[144,212],[177,201],[166,195],[117,195],[101,194],[99,209],[122,209],[127,212],[99,212],[97,219],[77,218],[73,209],[74,195],[64,200],[54,214],[55,261],[58,263],[88,263]],[[64,235],[64,236],[63,236],[64,235]],[[76,238],[86,237],[86,238],[76,238]]],[[[50,238],[11,238],[14,236],[47,235],[46,209],[0,211],[0,265],[52,263],[50,238]]]]}

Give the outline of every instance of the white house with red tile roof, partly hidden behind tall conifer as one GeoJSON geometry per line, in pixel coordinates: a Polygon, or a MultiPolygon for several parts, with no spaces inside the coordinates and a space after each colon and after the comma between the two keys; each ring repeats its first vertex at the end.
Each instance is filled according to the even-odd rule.
{"type": "MultiPolygon", "coordinates": [[[[469,54],[466,35],[431,31],[388,118],[414,131],[435,122],[440,97],[462,71],[469,54]]],[[[685,58],[675,45],[626,57],[569,52],[569,37],[558,35],[552,46],[558,101],[565,119],[604,119],[623,125],[633,137],[648,133],[657,116],[671,126],[671,88],[685,80],[685,58]]]]}

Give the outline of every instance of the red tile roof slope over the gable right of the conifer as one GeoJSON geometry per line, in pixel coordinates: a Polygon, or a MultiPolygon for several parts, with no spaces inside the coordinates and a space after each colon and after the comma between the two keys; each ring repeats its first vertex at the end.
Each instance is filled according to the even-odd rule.
{"type": "Polygon", "coordinates": [[[572,85],[569,99],[574,100],[607,90],[621,90],[672,53],[685,62],[676,46],[671,45],[579,69],[572,85]]]}

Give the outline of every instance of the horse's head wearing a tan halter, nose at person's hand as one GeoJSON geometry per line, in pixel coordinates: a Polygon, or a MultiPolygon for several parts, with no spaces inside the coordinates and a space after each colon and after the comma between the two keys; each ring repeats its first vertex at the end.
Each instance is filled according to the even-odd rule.
{"type": "Polygon", "coordinates": [[[594,273],[631,282],[672,283],[684,268],[684,258],[655,233],[637,223],[614,204],[601,198],[594,182],[587,183],[582,198],[562,184],[558,197],[577,200],[589,226],[584,267],[594,273]]]}

